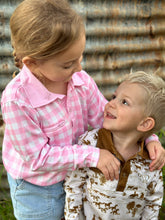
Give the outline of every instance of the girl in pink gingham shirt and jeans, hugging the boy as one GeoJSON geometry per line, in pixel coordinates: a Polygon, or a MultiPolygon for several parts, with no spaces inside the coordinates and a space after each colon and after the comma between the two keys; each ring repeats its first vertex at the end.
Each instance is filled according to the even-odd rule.
{"type": "MultiPolygon", "coordinates": [[[[118,179],[120,163],[111,153],[76,144],[88,125],[102,126],[107,100],[81,70],[84,25],[65,0],[23,1],[10,28],[24,64],[1,100],[3,162],[14,214],[18,220],[59,220],[67,171],[97,167],[106,179],[118,179]]],[[[155,166],[164,165],[159,142],[150,145],[151,155],[158,151],[155,166]]]]}

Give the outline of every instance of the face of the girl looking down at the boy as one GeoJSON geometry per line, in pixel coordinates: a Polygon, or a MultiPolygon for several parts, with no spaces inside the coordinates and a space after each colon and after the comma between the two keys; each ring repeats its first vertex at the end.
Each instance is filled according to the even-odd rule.
{"type": "Polygon", "coordinates": [[[85,49],[85,35],[73,43],[67,50],[52,56],[46,61],[36,61],[33,72],[41,81],[68,82],[75,72],[81,71],[82,55],[85,49]]]}

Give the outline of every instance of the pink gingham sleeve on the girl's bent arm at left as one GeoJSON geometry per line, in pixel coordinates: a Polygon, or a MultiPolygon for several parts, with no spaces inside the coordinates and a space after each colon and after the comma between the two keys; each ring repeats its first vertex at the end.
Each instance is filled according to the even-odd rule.
{"type": "MultiPolygon", "coordinates": [[[[12,145],[26,166],[36,174],[41,174],[41,171],[60,173],[79,167],[96,167],[99,149],[93,146],[50,146],[48,137],[41,129],[40,118],[33,108],[8,102],[3,105],[3,117],[6,124],[5,147],[12,145]]],[[[19,164],[15,166],[19,167],[19,164]]]]}

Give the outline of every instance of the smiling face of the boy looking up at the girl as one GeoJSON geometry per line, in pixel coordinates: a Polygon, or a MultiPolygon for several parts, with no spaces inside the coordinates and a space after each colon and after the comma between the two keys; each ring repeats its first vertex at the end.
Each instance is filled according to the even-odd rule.
{"type": "Polygon", "coordinates": [[[135,83],[123,82],[104,110],[103,127],[117,132],[136,130],[145,118],[145,91],[135,83]]]}

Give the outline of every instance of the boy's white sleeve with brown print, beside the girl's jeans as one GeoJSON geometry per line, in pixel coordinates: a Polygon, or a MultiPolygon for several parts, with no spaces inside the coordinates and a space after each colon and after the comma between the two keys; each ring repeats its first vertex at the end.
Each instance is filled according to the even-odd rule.
{"type": "Polygon", "coordinates": [[[66,192],[65,219],[79,220],[83,203],[83,187],[86,180],[86,168],[68,172],[64,183],[66,192]]]}

